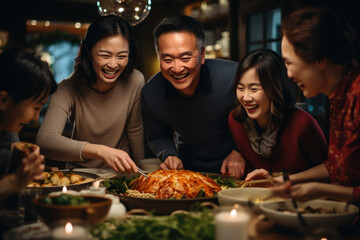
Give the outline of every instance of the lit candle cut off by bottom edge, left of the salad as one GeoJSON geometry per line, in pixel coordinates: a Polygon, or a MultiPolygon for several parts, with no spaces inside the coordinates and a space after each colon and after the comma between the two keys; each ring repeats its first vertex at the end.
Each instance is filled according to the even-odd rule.
{"type": "Polygon", "coordinates": [[[72,225],[67,222],[64,226],[59,226],[52,232],[53,240],[86,240],[88,239],[88,233],[86,228],[78,225],[72,225]]]}

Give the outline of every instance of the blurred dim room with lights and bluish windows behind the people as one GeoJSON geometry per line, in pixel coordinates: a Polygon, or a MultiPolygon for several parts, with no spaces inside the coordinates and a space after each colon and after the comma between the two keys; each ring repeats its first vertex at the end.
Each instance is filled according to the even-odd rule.
{"type": "MultiPolygon", "coordinates": [[[[11,47],[33,48],[46,60],[57,82],[67,78],[89,23],[104,11],[106,2],[132,6],[145,0],[2,0],[0,51],[11,47]],[[100,9],[102,7],[102,9],[100,9]]],[[[137,69],[148,80],[159,71],[152,30],[164,18],[186,14],[199,19],[206,34],[206,57],[239,61],[247,52],[268,48],[280,53],[283,16],[301,6],[323,5],[346,16],[360,33],[356,0],[146,0],[146,14],[135,16],[139,46],[137,69]]],[[[145,13],[145,12],[144,12],[145,13]]],[[[230,94],[230,93],[229,93],[230,94]]],[[[328,103],[324,96],[305,99],[298,91],[298,105],[312,114],[328,134],[328,103]]],[[[46,108],[42,115],[45,113],[46,108]]],[[[20,132],[34,142],[39,122],[20,132]]],[[[65,129],[66,134],[66,129],[65,129]]]]}

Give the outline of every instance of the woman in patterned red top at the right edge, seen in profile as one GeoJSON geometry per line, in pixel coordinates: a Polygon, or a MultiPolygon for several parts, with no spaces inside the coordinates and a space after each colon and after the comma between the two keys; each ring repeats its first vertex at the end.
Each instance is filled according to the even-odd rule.
{"type": "MultiPolygon", "coordinates": [[[[328,159],[272,188],[306,201],[328,197],[360,202],[359,39],[332,12],[304,8],[282,23],[282,55],[288,76],[306,97],[324,93],[330,101],[328,159]],[[331,181],[333,184],[320,183],[331,181]],[[316,181],[316,182],[314,182],[316,181]],[[299,184],[302,183],[302,184],[299,184]]],[[[258,171],[248,179],[266,175],[258,171]]]]}

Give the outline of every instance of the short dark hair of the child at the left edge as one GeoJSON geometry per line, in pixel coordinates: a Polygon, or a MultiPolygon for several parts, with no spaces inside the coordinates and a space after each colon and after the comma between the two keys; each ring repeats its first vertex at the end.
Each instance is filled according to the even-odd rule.
{"type": "Polygon", "coordinates": [[[33,52],[11,49],[0,54],[0,91],[6,91],[15,103],[43,100],[56,88],[49,65],[33,52]]]}

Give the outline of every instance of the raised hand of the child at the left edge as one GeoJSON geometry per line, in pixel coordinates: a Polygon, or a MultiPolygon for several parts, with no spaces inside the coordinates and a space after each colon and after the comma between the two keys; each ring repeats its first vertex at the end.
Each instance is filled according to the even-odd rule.
{"type": "Polygon", "coordinates": [[[35,150],[22,159],[20,167],[14,173],[17,190],[34,180],[41,180],[44,169],[44,155],[41,155],[40,148],[35,146],[35,150]]]}

